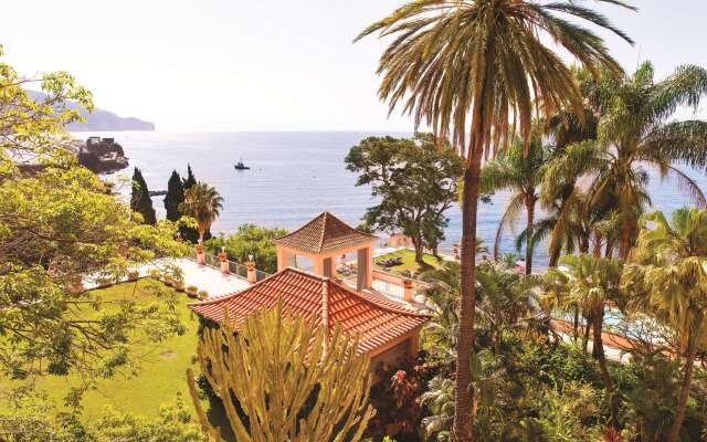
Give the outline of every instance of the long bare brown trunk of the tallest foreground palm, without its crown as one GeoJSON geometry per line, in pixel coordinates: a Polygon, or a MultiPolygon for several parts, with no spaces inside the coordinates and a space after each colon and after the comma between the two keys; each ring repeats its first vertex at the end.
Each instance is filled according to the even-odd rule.
{"type": "MultiPolygon", "coordinates": [[[[476,149],[475,149],[476,150],[476,149]]],[[[474,440],[474,391],[469,361],[474,350],[474,270],[476,267],[476,215],[478,209],[478,180],[481,152],[473,152],[464,172],[464,201],[462,206],[462,259],[460,330],[456,356],[454,428],[456,442],[474,440]]]]}

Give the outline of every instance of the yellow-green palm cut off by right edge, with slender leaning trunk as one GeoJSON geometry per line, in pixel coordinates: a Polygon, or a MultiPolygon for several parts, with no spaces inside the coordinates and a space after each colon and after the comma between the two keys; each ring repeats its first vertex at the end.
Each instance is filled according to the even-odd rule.
{"type": "Polygon", "coordinates": [[[679,341],[685,375],[667,436],[676,442],[695,357],[707,347],[707,210],[676,210],[672,224],[662,212],[643,217],[622,283],[633,306],[668,325],[679,341]]]}

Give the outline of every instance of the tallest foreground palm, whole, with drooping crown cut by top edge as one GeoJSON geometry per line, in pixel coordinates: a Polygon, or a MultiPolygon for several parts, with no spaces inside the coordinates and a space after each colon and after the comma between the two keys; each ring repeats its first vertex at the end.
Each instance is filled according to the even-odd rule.
{"type": "MultiPolygon", "coordinates": [[[[598,0],[629,8],[623,0],[598,0]]],[[[601,38],[567,17],[609,29],[631,41],[602,14],[574,1],[416,0],[368,27],[357,40],[379,32],[394,36],[383,52],[379,90],[392,112],[451,135],[466,158],[462,204],[461,323],[456,364],[454,438],[473,440],[474,410],[469,360],[474,347],[474,270],[482,157],[506,144],[516,127],[526,148],[534,105],[582,108],[570,69],[548,46],[552,41],[590,70],[619,72],[601,38]],[[513,119],[513,124],[509,123],[513,119]],[[468,140],[468,143],[467,143],[468,140]]]]}

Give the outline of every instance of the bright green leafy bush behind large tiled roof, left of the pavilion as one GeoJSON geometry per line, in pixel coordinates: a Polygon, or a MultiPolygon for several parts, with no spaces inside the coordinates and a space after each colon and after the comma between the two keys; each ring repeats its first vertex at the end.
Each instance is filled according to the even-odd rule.
{"type": "Polygon", "coordinates": [[[246,262],[249,256],[253,255],[255,267],[272,274],[277,272],[277,253],[273,241],[286,233],[287,231],[281,228],[243,224],[235,233],[212,238],[204,245],[211,253],[218,253],[221,248],[225,248],[229,260],[235,262],[246,262]]]}

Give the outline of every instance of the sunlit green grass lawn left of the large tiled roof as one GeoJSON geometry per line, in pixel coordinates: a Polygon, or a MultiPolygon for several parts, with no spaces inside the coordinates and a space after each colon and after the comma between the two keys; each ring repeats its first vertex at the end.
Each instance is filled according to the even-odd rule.
{"type": "MultiPolygon", "coordinates": [[[[139,302],[145,303],[154,301],[154,295],[144,291],[148,282],[140,281],[137,284],[138,290],[135,294],[135,283],[118,284],[97,292],[106,301],[126,296],[136,296],[139,302]]],[[[197,348],[199,320],[186,306],[193,299],[183,293],[177,293],[177,296],[181,320],[187,327],[186,333],[157,345],[138,348],[140,367],[137,376],[126,378],[117,375],[114,378],[101,380],[95,390],[87,391],[82,402],[85,420],[95,419],[105,406],[135,414],[155,417],[161,404],[175,402],[177,393],[181,393],[184,403],[191,404],[186,371],[189,367],[196,371],[199,368],[198,362],[192,362],[197,348]]],[[[56,404],[61,406],[70,387],[74,385],[77,385],[75,377],[48,376],[39,381],[38,387],[45,390],[51,398],[55,399],[56,404]]]]}

